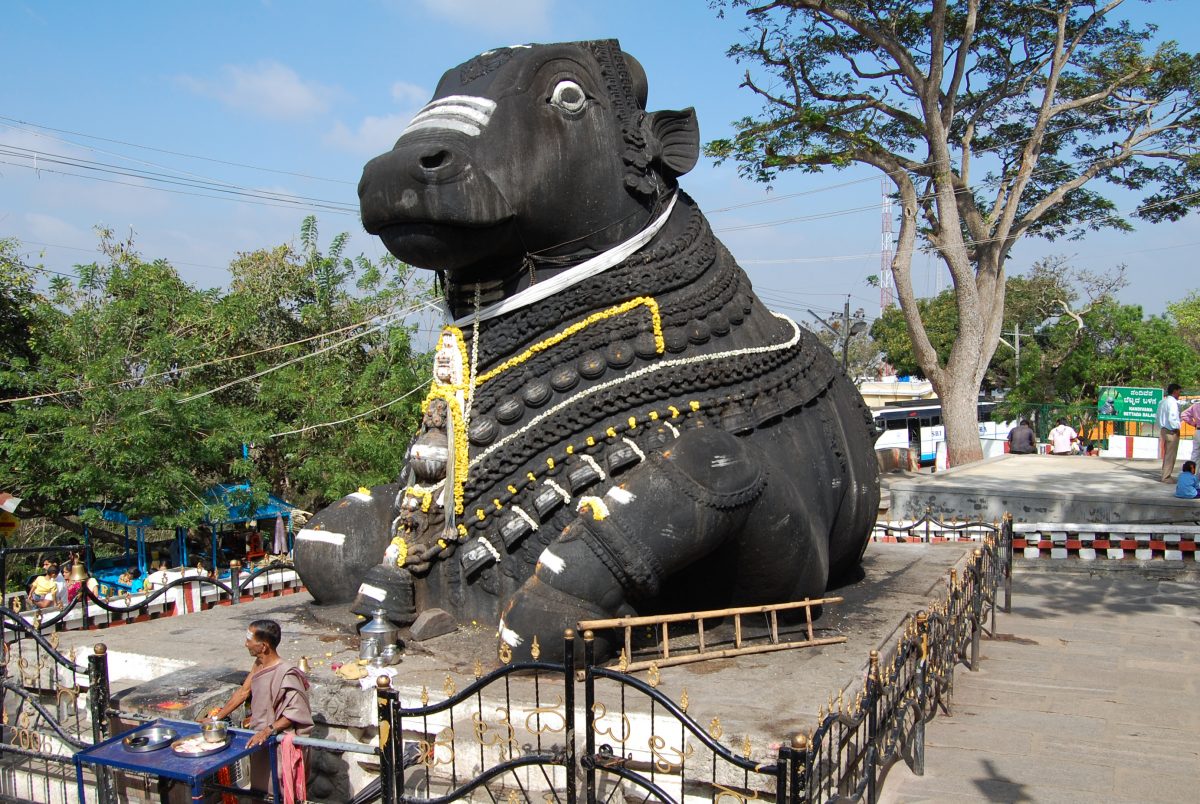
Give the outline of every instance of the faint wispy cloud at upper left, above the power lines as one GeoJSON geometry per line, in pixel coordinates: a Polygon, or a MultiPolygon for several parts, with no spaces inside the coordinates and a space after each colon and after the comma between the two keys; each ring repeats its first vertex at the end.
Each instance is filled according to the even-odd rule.
{"type": "Polygon", "coordinates": [[[181,76],[179,83],[197,95],[272,120],[312,118],[329,109],[334,89],[304,80],[292,67],[260,61],[251,67],[226,65],[221,79],[181,76]]]}

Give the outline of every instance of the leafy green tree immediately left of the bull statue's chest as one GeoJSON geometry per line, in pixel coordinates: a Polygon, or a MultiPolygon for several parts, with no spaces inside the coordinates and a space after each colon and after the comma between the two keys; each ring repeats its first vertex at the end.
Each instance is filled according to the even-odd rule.
{"type": "Polygon", "coordinates": [[[395,480],[420,415],[413,391],[428,379],[431,362],[413,354],[410,328],[379,317],[427,301],[431,288],[390,254],[378,263],[344,257],[343,234],[322,252],[316,218],[304,221],[300,240],[299,251],[284,245],[238,254],[222,305],[240,352],[299,342],[264,354],[258,371],[328,349],[239,392],[262,414],[246,434],[258,470],[294,502],[316,506],[395,480]],[[353,343],[338,347],[346,338],[353,343]],[[322,426],[380,406],[377,415],[322,426]]]}

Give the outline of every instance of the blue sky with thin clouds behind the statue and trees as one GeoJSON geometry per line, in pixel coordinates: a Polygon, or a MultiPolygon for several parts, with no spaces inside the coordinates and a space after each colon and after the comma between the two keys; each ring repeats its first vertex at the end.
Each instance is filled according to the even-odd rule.
{"type": "MultiPolygon", "coordinates": [[[[1192,2],[1130,2],[1130,13],[1195,50],[1192,2]]],[[[353,214],[362,164],[391,146],[444,70],[497,46],[617,37],[646,66],[649,107],[696,107],[704,140],[757,109],[725,56],[740,20],[719,19],[706,0],[10,0],[2,19],[0,236],[20,239],[31,260],[60,271],[96,258],[92,227],[103,224],[132,228],[144,256],[170,260],[191,282],[223,284],[236,252],[294,240],[310,211],[233,194],[240,188],[335,206],[318,212],[323,242],[348,230],[353,253],[382,254],[353,214]],[[62,175],[90,172],[56,164],[61,157],[185,174],[232,192],[62,175]],[[196,192],[221,198],[182,194],[196,192]]],[[[850,294],[852,307],[878,313],[878,292],[865,284],[880,272],[874,172],[788,174],[768,192],[732,166],[702,161],[682,184],[772,306],[804,319],[808,308],[840,311],[850,294]],[[750,202],[766,203],[727,209],[750,202]]],[[[1028,241],[1010,270],[1049,253],[1097,270],[1124,263],[1130,283],[1121,299],[1162,313],[1200,287],[1190,278],[1200,226],[1192,217],[1138,227],[1028,241]]],[[[936,260],[914,258],[919,295],[937,289],[940,276],[936,260]]]]}

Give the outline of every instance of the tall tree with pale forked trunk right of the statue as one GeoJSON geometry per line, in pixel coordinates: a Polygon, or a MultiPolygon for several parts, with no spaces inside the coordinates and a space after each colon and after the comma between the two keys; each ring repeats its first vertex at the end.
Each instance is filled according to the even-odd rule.
{"type": "Polygon", "coordinates": [[[730,54],[755,67],[744,85],[763,110],[707,152],[762,181],[858,163],[895,185],[896,294],[955,463],[982,457],[976,397],[1003,326],[1013,246],[1129,229],[1127,217],[1177,220],[1200,202],[1198,58],[1174,42],[1147,52],[1154,28],[1112,19],[1122,4],[728,4],[750,23],[730,54]],[[1099,181],[1145,203],[1122,215],[1093,190],[1099,181]],[[913,295],[918,239],[952,277],[960,325],[948,347],[913,295]]]}

